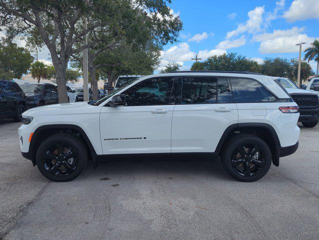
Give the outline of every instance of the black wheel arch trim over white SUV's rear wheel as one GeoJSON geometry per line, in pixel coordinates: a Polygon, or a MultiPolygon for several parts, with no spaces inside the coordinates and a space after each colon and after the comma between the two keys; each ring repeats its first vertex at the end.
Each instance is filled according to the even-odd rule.
{"type": "Polygon", "coordinates": [[[275,129],[267,123],[262,122],[248,122],[238,123],[228,126],[222,134],[215,152],[219,155],[226,147],[228,140],[237,134],[253,134],[263,139],[269,146],[272,154],[272,163],[276,166],[279,165],[280,156],[280,141],[275,129]]]}

